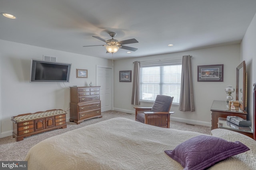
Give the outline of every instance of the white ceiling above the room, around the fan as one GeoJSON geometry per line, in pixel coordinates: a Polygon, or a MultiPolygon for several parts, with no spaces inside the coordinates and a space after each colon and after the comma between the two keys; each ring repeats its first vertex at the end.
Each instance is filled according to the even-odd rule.
{"type": "MultiPolygon", "coordinates": [[[[135,38],[130,54],[141,57],[240,43],[256,13],[256,0],[1,0],[0,39],[112,59],[92,36],[135,38]],[[168,47],[168,44],[174,44],[168,47]]],[[[15,50],[15,49],[14,49],[15,50]]]]}

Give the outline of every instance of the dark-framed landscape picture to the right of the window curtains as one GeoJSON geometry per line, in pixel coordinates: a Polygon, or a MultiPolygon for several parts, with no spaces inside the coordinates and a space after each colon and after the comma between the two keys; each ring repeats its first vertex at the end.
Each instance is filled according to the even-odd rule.
{"type": "Polygon", "coordinates": [[[223,64],[197,66],[198,82],[223,82],[223,64]]]}

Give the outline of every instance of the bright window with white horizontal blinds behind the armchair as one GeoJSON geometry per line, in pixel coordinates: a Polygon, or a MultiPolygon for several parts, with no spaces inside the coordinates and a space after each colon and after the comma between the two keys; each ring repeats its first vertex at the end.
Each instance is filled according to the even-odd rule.
{"type": "MultiPolygon", "coordinates": [[[[159,64],[159,63],[158,63],[159,64]]],[[[180,102],[181,63],[170,65],[142,64],[140,67],[140,100],[155,101],[158,94],[173,96],[180,102]]]]}

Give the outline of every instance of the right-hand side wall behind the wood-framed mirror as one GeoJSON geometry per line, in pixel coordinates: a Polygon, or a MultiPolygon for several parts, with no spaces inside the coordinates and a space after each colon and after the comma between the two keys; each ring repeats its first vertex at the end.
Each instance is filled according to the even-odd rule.
{"type": "MultiPolygon", "coordinates": [[[[247,107],[249,119],[253,118],[253,83],[256,83],[256,14],[248,27],[241,43],[241,61],[246,62],[247,81],[247,107]]],[[[247,117],[248,118],[248,117],[247,117]]]]}

